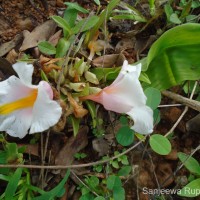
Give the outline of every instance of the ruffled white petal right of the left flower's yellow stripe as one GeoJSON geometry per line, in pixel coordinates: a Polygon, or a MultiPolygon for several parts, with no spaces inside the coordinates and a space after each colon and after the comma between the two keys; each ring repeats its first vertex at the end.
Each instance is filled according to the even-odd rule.
{"type": "Polygon", "coordinates": [[[41,81],[38,86],[38,96],[33,107],[33,120],[30,128],[30,134],[42,132],[55,125],[60,119],[62,108],[51,100],[46,86],[41,81]]]}

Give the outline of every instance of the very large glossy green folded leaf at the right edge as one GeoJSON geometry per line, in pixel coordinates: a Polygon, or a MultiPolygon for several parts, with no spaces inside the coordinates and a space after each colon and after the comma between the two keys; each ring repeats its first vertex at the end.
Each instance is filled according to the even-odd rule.
{"type": "Polygon", "coordinates": [[[150,48],[146,74],[151,87],[164,90],[185,80],[200,79],[200,24],[166,31],[150,48]]]}

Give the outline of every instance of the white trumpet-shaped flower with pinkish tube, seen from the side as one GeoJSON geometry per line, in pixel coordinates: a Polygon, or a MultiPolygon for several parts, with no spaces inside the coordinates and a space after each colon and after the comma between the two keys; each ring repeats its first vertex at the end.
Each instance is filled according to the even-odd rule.
{"type": "Polygon", "coordinates": [[[133,130],[150,134],[153,132],[153,111],[146,106],[146,96],[139,81],[140,72],[141,64],[131,66],[125,60],[118,77],[110,86],[81,99],[96,101],[107,110],[126,113],[134,121],[133,130]]]}

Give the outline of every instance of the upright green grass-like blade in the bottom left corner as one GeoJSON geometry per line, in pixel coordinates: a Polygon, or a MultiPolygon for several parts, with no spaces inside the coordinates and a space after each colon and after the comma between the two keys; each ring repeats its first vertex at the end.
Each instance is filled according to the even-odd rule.
{"type": "Polygon", "coordinates": [[[15,173],[13,174],[12,178],[8,182],[8,185],[5,190],[5,200],[13,199],[15,192],[18,187],[18,182],[22,175],[22,168],[16,169],[15,173]]]}

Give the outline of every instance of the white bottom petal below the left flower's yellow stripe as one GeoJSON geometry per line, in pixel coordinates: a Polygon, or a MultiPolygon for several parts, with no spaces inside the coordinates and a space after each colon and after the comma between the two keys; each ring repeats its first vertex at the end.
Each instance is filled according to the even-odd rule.
{"type": "Polygon", "coordinates": [[[0,131],[23,138],[31,126],[32,108],[17,110],[10,115],[0,115],[0,131]]]}

